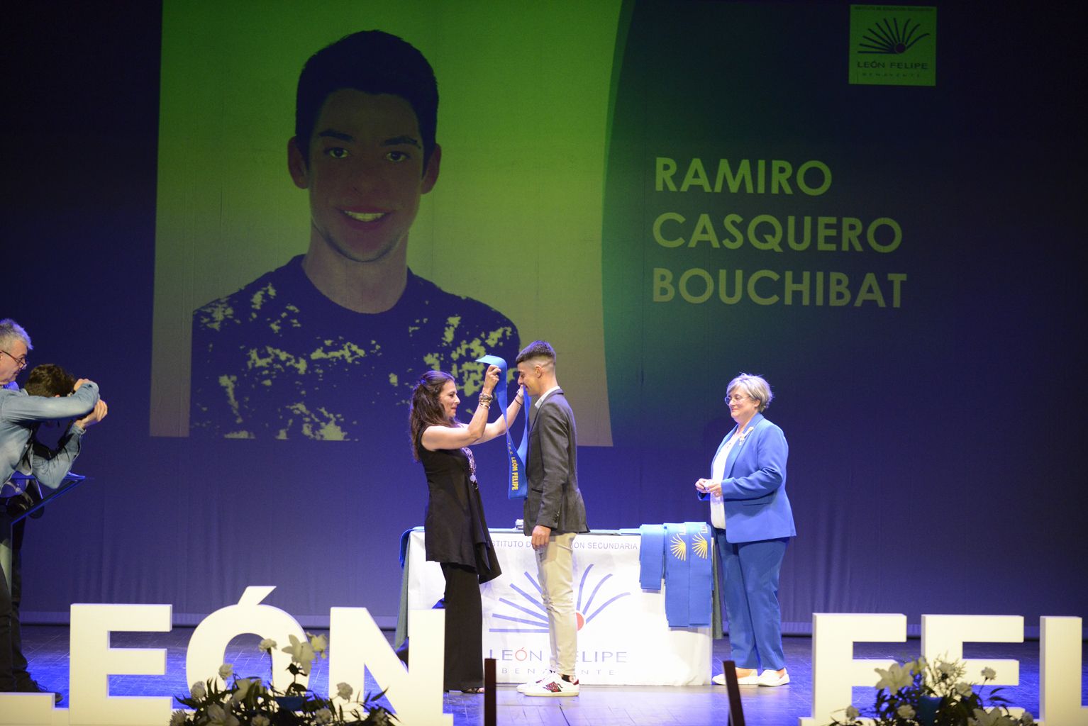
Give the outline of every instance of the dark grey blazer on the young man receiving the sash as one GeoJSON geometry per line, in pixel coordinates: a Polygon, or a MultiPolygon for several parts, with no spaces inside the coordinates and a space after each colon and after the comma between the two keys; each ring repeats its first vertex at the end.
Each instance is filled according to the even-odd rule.
{"type": "Polygon", "coordinates": [[[540,409],[530,409],[529,496],[526,497],[524,533],[544,525],[552,533],[583,533],[585,504],[578,490],[578,433],[574,412],[559,389],[544,399],[540,409]]]}

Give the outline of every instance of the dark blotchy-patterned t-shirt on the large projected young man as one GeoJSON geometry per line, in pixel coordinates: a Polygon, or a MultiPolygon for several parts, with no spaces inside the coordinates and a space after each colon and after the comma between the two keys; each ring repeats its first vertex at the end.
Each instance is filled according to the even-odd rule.
{"type": "Polygon", "coordinates": [[[400,300],[357,313],[329,300],[302,255],[193,314],[189,430],[223,438],[361,441],[408,428],[425,371],[478,392],[484,354],[514,361],[518,330],[489,305],[408,271],[400,300]]]}

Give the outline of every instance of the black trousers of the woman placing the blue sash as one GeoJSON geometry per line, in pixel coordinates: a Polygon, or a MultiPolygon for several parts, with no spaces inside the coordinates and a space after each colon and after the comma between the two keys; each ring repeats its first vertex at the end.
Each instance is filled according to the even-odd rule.
{"type": "Polygon", "coordinates": [[[446,578],[446,658],[443,688],[447,691],[483,686],[483,605],[472,567],[443,562],[446,578]]]}

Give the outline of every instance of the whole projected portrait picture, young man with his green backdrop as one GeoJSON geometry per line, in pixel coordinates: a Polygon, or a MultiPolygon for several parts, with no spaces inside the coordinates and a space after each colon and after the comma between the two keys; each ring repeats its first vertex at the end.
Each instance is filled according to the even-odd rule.
{"type": "Polygon", "coordinates": [[[586,439],[611,443],[599,236],[618,4],[491,26],[483,8],[435,23],[425,7],[164,5],[153,436],[375,450],[407,438],[424,371],[472,395],[475,359],[512,361],[564,320],[547,333],[579,351],[586,439]],[[524,52],[541,27],[564,43],[524,52]]]}

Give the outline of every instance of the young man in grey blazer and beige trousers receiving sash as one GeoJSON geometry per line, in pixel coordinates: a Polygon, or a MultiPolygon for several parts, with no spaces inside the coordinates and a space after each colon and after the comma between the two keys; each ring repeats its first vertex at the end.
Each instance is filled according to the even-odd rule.
{"type": "Polygon", "coordinates": [[[543,340],[518,354],[518,384],[535,403],[529,411],[524,533],[532,537],[536,572],[548,616],[551,671],[523,684],[526,696],[578,696],[574,672],[578,622],[574,614],[573,543],[589,531],[578,490],[578,433],[574,412],[555,376],[555,349],[543,340]]]}

